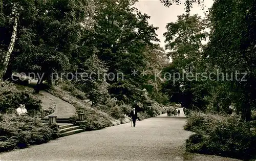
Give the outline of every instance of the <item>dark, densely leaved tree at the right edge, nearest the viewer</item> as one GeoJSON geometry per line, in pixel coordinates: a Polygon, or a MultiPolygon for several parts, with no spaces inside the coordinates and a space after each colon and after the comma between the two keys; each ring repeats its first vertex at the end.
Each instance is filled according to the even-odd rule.
{"type": "Polygon", "coordinates": [[[210,10],[212,30],[205,51],[211,67],[233,74],[232,80],[225,81],[227,93],[232,94],[232,102],[246,121],[256,103],[255,9],[255,1],[215,1],[210,10]],[[236,71],[246,73],[247,81],[241,80],[244,74],[236,76],[236,71]]]}

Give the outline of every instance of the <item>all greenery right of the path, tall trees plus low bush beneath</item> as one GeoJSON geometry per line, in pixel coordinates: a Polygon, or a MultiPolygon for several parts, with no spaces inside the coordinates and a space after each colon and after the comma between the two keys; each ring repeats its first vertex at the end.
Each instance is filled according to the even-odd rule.
{"type": "MultiPolygon", "coordinates": [[[[167,7],[180,3],[161,2],[167,7]]],[[[187,141],[187,151],[242,159],[255,153],[255,134],[246,123],[255,111],[255,12],[255,1],[217,0],[205,18],[183,14],[166,26],[173,62],[165,71],[185,78],[169,79],[163,92],[187,109],[226,114],[188,114],[185,129],[196,134],[187,141]],[[208,41],[203,45],[202,40],[208,41]]]]}

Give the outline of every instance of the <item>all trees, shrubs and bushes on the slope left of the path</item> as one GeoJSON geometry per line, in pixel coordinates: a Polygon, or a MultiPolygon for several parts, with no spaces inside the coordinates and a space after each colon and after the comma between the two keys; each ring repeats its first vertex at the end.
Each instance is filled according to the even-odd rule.
{"type": "Polygon", "coordinates": [[[71,121],[77,120],[77,113],[85,113],[86,122],[80,126],[86,130],[130,122],[127,115],[133,107],[139,120],[164,112],[168,97],[154,75],[169,62],[164,50],[152,42],[159,40],[157,28],[148,24],[150,16],[134,4],[130,0],[1,1],[0,151],[57,137],[55,128],[39,121],[47,113],[41,90],[75,106],[71,121]],[[141,75],[142,71],[147,72],[141,75]],[[30,78],[14,81],[14,73],[34,73],[32,79],[41,81],[32,86],[34,91],[27,90],[30,78]],[[16,116],[19,104],[26,105],[30,117],[16,116]]]}

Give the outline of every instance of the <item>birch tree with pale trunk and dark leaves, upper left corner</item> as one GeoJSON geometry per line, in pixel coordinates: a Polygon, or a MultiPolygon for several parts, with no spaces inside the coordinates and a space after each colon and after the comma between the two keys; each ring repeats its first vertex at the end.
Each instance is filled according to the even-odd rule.
{"type": "Polygon", "coordinates": [[[28,1],[12,1],[12,0],[2,0],[0,2],[0,32],[1,32],[1,46],[0,46],[0,55],[1,55],[1,67],[0,67],[0,79],[3,79],[9,65],[10,57],[14,49],[18,20],[20,17],[24,18],[27,15],[33,14],[34,2],[28,1]],[[26,11],[24,11],[26,8],[26,11]]]}

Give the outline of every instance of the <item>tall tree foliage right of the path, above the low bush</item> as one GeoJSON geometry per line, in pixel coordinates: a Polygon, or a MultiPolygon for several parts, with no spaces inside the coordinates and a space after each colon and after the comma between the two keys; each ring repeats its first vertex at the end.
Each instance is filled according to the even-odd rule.
{"type": "Polygon", "coordinates": [[[167,24],[166,49],[173,62],[164,72],[180,75],[163,86],[170,101],[188,109],[235,111],[250,121],[256,91],[254,13],[254,1],[215,1],[205,18],[183,14],[167,24]]]}

